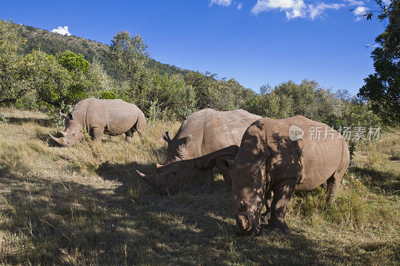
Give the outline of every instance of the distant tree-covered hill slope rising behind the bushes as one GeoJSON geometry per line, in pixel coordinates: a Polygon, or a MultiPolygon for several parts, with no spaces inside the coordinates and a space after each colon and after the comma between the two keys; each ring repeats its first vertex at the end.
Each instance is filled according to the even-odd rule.
{"type": "MultiPolygon", "coordinates": [[[[26,38],[26,46],[23,50],[24,54],[30,53],[34,49],[40,48],[47,54],[55,55],[57,52],[70,50],[74,53],[81,53],[88,62],[96,57],[104,67],[104,70],[113,78],[117,78],[116,73],[111,67],[108,56],[109,45],[90,39],[85,39],[75,35],[67,36],[50,32],[46,29],[40,29],[32,26],[14,24],[18,33],[26,38]]],[[[164,64],[154,59],[150,59],[147,67],[156,68],[163,75],[167,73],[185,75],[189,70],[181,69],[174,65],[164,64]]]]}

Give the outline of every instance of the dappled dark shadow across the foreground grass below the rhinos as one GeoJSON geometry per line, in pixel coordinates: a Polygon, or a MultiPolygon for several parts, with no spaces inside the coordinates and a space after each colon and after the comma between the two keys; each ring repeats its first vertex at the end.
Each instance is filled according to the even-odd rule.
{"type": "Polygon", "coordinates": [[[353,259],[350,253],[338,252],[337,243],[320,249],[301,231],[236,236],[231,195],[222,180],[208,195],[193,195],[199,181],[192,179],[188,193],[162,197],[132,175],[134,169],[152,167],[105,162],[97,169],[102,178],[83,184],[22,176],[0,165],[0,232],[8,234],[0,262],[323,265],[353,259]],[[101,184],[109,180],[119,184],[101,184]],[[134,198],[129,189],[137,191],[134,198]]]}

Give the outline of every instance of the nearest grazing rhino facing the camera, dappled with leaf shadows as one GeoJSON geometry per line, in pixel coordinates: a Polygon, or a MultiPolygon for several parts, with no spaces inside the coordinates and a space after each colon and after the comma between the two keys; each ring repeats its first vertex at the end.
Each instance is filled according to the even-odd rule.
{"type": "Polygon", "coordinates": [[[294,190],[309,191],[326,181],[326,203],[331,204],[348,167],[349,152],[337,131],[297,115],[255,121],[244,133],[234,160],[220,161],[232,178],[236,233],[257,235],[264,203],[270,205],[270,213],[262,214],[270,217],[267,228],[288,232],[284,217],[294,190]]]}

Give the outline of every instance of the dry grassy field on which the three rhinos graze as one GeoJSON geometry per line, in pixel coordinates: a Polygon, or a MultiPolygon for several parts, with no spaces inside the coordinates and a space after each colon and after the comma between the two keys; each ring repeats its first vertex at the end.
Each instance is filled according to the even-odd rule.
{"type": "Polygon", "coordinates": [[[198,173],[184,192],[158,196],[134,174],[163,163],[179,123],[153,123],[143,139],[122,137],[56,147],[45,114],[1,109],[0,263],[32,265],[398,265],[400,130],[357,143],[333,207],[318,188],[296,193],[290,232],[234,234],[231,194],[196,195],[198,173]]]}

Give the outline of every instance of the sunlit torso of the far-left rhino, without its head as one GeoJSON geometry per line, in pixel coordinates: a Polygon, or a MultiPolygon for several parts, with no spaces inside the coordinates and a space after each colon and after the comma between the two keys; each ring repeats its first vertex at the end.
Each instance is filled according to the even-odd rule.
{"type": "Polygon", "coordinates": [[[79,106],[76,105],[79,107],[77,110],[82,112],[86,108],[84,128],[88,131],[93,127],[104,128],[104,134],[111,136],[128,131],[136,123],[141,112],[136,105],[121,99],[88,98],[79,103],[79,106]]]}

